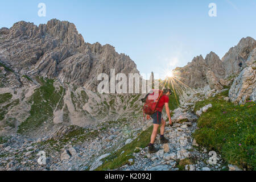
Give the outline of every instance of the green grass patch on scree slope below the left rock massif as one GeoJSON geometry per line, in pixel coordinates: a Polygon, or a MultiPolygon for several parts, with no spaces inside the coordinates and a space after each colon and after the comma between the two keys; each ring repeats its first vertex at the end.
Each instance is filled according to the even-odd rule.
{"type": "Polygon", "coordinates": [[[19,125],[18,133],[26,133],[39,127],[43,122],[53,117],[53,109],[59,102],[63,88],[56,92],[53,86],[54,80],[37,78],[42,86],[35,90],[31,97],[30,116],[19,125]]]}

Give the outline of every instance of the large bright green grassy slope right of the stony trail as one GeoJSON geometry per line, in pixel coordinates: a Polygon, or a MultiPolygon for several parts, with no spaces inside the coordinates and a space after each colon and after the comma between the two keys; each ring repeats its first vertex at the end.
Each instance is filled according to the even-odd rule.
{"type": "Polygon", "coordinates": [[[208,150],[220,152],[226,162],[255,170],[255,103],[234,105],[223,100],[226,96],[228,91],[196,103],[195,111],[207,104],[212,107],[199,118],[193,137],[208,150]]]}

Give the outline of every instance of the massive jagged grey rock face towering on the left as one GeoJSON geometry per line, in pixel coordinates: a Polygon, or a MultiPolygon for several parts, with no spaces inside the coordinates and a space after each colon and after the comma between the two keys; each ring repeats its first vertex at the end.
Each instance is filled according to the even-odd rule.
{"type": "Polygon", "coordinates": [[[0,59],[14,71],[58,78],[96,91],[100,73],[139,73],[129,56],[113,46],[85,43],[73,23],[52,19],[39,26],[18,22],[0,30],[0,59]]]}

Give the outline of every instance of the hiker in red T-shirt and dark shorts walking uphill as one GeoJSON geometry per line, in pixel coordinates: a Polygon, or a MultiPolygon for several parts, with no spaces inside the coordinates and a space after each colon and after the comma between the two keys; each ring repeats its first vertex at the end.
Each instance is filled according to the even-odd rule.
{"type": "MultiPolygon", "coordinates": [[[[156,135],[158,133],[158,127],[160,124],[162,124],[162,126],[160,127],[160,142],[161,143],[168,143],[168,139],[164,138],[164,127],[166,126],[166,121],[164,121],[164,119],[162,118],[162,110],[163,107],[165,106],[166,108],[166,113],[167,116],[169,118],[169,125],[172,125],[172,120],[171,120],[171,115],[170,115],[170,109],[169,109],[169,95],[171,94],[171,89],[164,89],[163,90],[163,96],[160,97],[158,105],[156,106],[156,112],[154,114],[151,115],[151,117],[153,118],[153,131],[152,131],[152,135],[151,135],[151,139],[150,139],[150,144],[148,144],[148,152],[149,153],[154,153],[156,151],[158,151],[158,149],[156,149],[154,147],[154,142],[155,142],[155,138],[156,135]]],[[[147,118],[149,118],[149,115],[147,115],[147,118]]]]}

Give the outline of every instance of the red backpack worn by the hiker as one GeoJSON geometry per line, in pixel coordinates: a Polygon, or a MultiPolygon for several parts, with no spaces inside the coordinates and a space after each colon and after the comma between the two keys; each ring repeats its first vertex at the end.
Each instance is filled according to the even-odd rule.
{"type": "Polygon", "coordinates": [[[152,115],[155,113],[155,109],[158,105],[160,98],[163,96],[163,90],[152,89],[146,96],[146,102],[143,106],[143,115],[152,115]]]}

